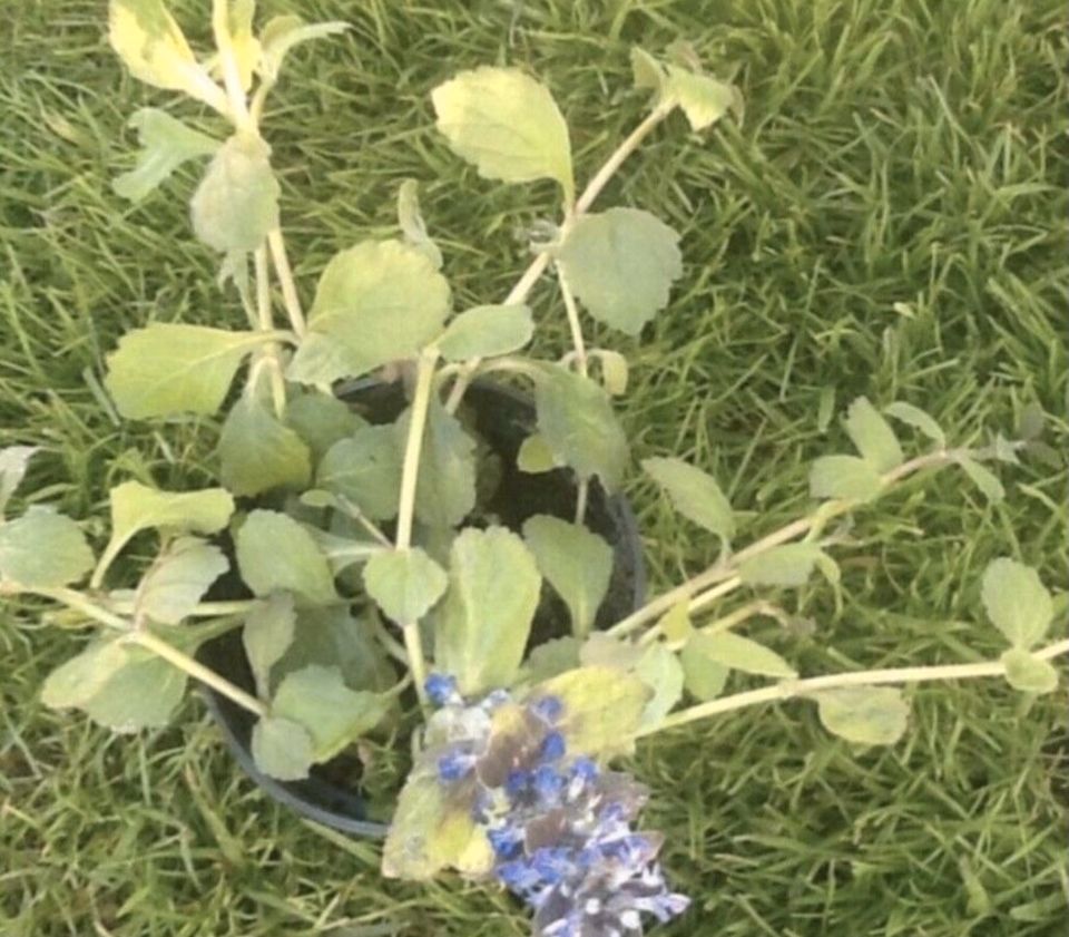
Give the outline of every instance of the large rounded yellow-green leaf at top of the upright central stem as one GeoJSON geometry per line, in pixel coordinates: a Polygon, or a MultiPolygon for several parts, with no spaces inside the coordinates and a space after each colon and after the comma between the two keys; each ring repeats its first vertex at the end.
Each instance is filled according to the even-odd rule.
{"type": "Polygon", "coordinates": [[[441,333],[450,294],[434,264],[399,241],[364,241],[326,265],[288,377],[328,387],[413,358],[441,333]]]}

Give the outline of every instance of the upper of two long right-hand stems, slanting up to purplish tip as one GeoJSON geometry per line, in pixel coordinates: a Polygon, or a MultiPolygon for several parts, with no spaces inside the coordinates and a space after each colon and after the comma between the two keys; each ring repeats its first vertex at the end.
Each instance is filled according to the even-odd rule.
{"type": "MultiPolygon", "coordinates": [[[[960,455],[961,452],[959,451],[940,449],[936,452],[929,452],[925,456],[918,456],[915,459],[910,459],[910,461],[903,462],[898,468],[894,468],[882,476],[881,480],[883,481],[883,488],[881,490],[881,495],[891,490],[891,488],[893,488],[894,485],[898,481],[901,481],[903,478],[906,478],[908,476],[913,475],[914,472],[924,468],[949,465],[960,455]]],[[[827,524],[828,520],[846,514],[861,504],[863,502],[859,501],[856,498],[836,498],[834,500],[825,501],[816,510],[806,515],[805,517],[793,520],[785,527],[774,530],[772,534],[762,537],[762,539],[751,544],[748,547],[746,547],[746,549],[741,550],[739,553],[736,553],[725,559],[717,560],[717,563],[715,563],[704,573],[699,573],[694,578],[687,579],[687,582],[681,583],[675,588],[657,596],[637,612],[632,612],[626,618],[622,618],[620,622],[615,624],[611,628],[609,628],[608,633],[615,636],[630,634],[632,631],[641,627],[647,622],[659,618],[677,602],[683,602],[684,599],[698,596],[700,593],[709,589],[710,586],[715,586],[717,583],[723,583],[725,579],[732,579],[737,574],[738,567],[747,559],[753,559],[755,556],[761,556],[763,553],[767,553],[773,547],[782,546],[783,544],[793,540],[795,537],[801,537],[803,534],[808,533],[813,528],[822,527],[823,525],[827,524]]],[[[734,586],[732,586],[732,588],[734,588],[734,586]]],[[[727,588],[726,592],[730,592],[732,588],[727,588]]],[[[724,593],[717,593],[717,595],[723,594],[724,593]]],[[[712,601],[712,598],[708,601],[712,601]]]]}

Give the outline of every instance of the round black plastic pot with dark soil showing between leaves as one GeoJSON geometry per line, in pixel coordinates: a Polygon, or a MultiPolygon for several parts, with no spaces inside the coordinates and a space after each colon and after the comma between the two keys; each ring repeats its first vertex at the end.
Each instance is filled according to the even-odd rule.
{"type": "MultiPolygon", "coordinates": [[[[360,382],[343,391],[342,398],[372,422],[394,420],[405,406],[400,384],[360,382]]],[[[516,468],[520,443],[534,427],[531,399],[509,387],[477,382],[464,398],[471,428],[500,457],[501,479],[487,505],[507,527],[519,530],[527,518],[548,514],[570,520],[575,515],[576,482],[569,470],[527,475],[516,468]]],[[[635,516],[620,496],[609,497],[596,482],[590,487],[587,525],[611,544],[615,552],[609,594],[598,613],[597,626],[607,627],[641,605],[646,594],[646,569],[635,516]]],[[[536,616],[532,641],[541,643],[567,633],[567,612],[545,589],[536,616]]],[[[203,645],[197,655],[214,671],[249,692],[253,674],[245,657],[241,633],[232,631],[203,645]]],[[[205,700],[226,743],[244,771],[271,797],[298,813],[336,830],[381,838],[389,829],[367,819],[367,804],[359,790],[333,780],[331,765],[316,765],[303,781],[276,781],[256,769],[249,751],[254,718],[244,709],[207,686],[205,700]]]]}

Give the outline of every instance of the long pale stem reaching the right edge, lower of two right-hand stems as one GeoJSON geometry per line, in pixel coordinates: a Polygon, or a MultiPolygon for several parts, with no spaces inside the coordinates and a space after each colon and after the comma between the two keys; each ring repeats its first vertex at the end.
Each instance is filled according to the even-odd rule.
{"type": "MultiPolygon", "coordinates": [[[[1069,653],[1069,641],[1059,641],[1036,652],[1036,656],[1050,661],[1069,653]]],[[[666,729],[675,729],[706,719],[719,713],[733,712],[761,703],[772,703],[806,696],[822,690],[838,690],[845,686],[877,686],[887,683],[929,683],[932,681],[970,680],[979,676],[1002,676],[1006,665],[1001,661],[984,661],[979,664],[948,664],[928,667],[892,667],[887,670],[854,671],[852,673],[825,674],[807,680],[786,680],[774,686],[764,686],[761,690],[749,690],[745,693],[735,693],[723,700],[713,700],[697,706],[683,710],[667,716],[655,728],[647,729],[639,734],[653,735],[666,729]]]]}

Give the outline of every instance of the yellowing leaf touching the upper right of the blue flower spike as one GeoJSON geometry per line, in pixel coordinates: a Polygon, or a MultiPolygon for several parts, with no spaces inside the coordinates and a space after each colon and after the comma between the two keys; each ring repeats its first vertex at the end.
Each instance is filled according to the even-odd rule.
{"type": "Polygon", "coordinates": [[[627,754],[649,701],[637,676],[616,667],[588,666],[568,671],[532,687],[529,700],[556,696],[563,703],[557,728],[569,754],[627,754]]]}

